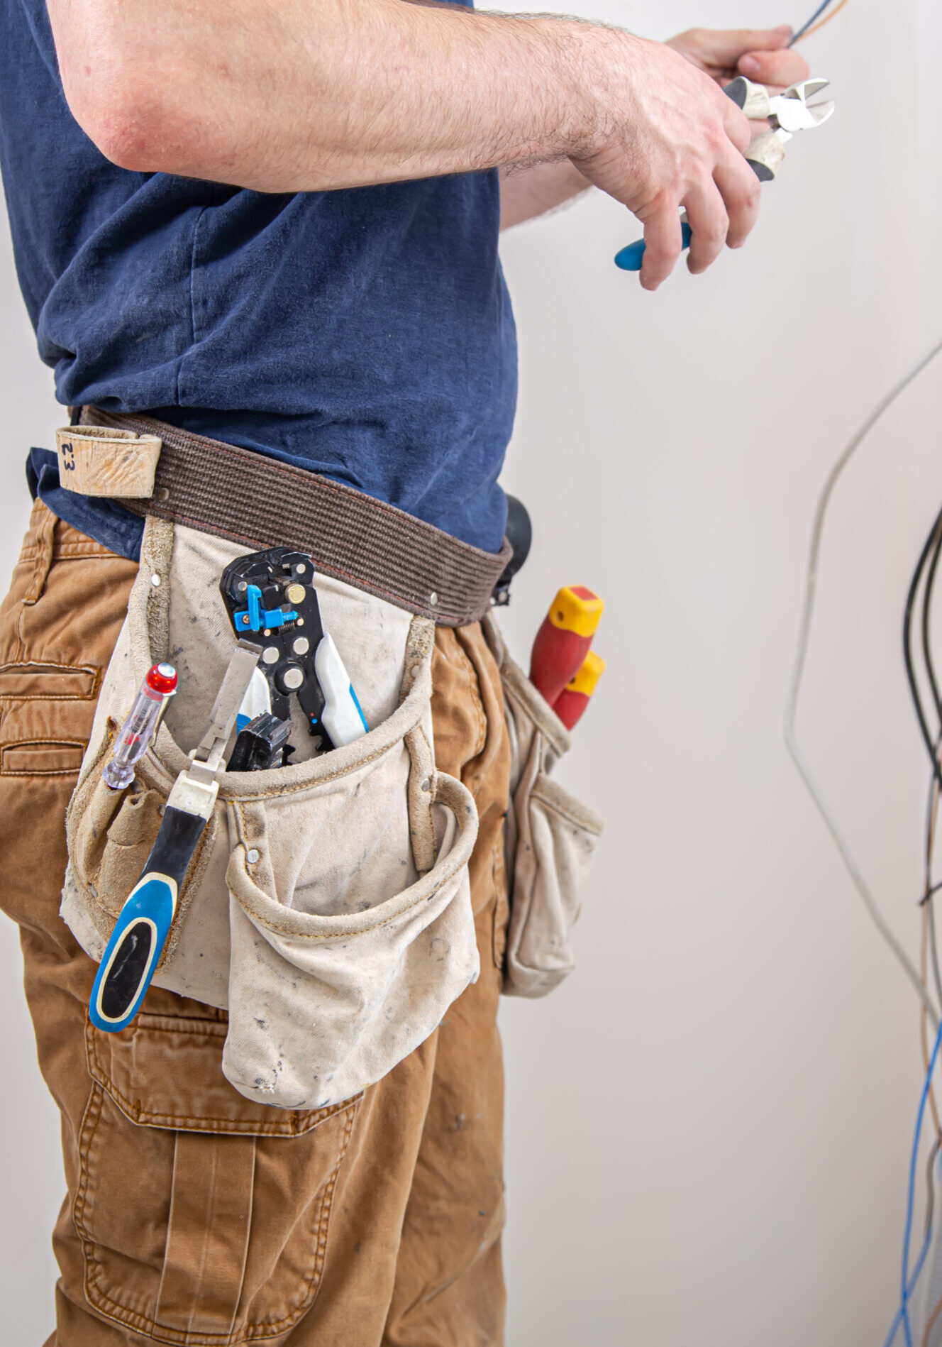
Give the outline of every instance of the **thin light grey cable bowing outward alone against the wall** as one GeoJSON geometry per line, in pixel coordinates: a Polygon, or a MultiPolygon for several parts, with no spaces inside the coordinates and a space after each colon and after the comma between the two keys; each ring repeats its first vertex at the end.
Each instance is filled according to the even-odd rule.
{"type": "Polygon", "coordinates": [[[786,744],[786,748],[789,750],[789,754],[791,756],[791,761],[795,764],[795,768],[798,769],[798,775],[801,776],[802,781],[805,783],[805,787],[807,788],[807,792],[811,796],[811,800],[814,801],[816,808],[818,810],[818,814],[824,819],[824,823],[825,823],[828,831],[830,832],[830,835],[832,835],[832,838],[834,841],[834,845],[837,846],[837,850],[841,854],[841,859],[844,861],[844,865],[846,866],[846,870],[848,870],[848,873],[850,876],[850,880],[853,881],[853,885],[855,885],[857,893],[860,894],[860,897],[861,897],[861,900],[864,902],[864,907],[867,908],[867,912],[869,913],[871,920],[873,921],[873,924],[876,925],[877,931],[880,932],[880,935],[885,940],[887,946],[892,951],[894,956],[899,962],[900,967],[903,968],[903,973],[906,974],[906,977],[910,979],[910,982],[915,987],[916,995],[919,997],[919,999],[925,1005],[926,1013],[929,1014],[929,1018],[930,1018],[930,1022],[931,1022],[933,1028],[938,1026],[938,1024],[939,1024],[939,1014],[938,1014],[935,1006],[933,1005],[933,1001],[931,1001],[929,993],[922,986],[919,974],[916,973],[916,970],[915,970],[915,967],[912,964],[912,960],[908,958],[908,955],[906,954],[906,951],[900,946],[899,940],[894,935],[892,929],[890,928],[885,917],[883,916],[883,912],[880,911],[880,907],[876,902],[876,898],[871,893],[869,886],[867,885],[867,881],[864,880],[863,872],[860,870],[860,866],[857,865],[857,861],[856,861],[856,858],[853,855],[853,851],[850,850],[848,842],[844,838],[844,834],[841,831],[841,826],[838,824],[837,819],[834,818],[834,815],[833,815],[833,812],[830,810],[830,806],[828,804],[828,800],[825,799],[821,788],[818,787],[814,776],[811,775],[810,768],[807,766],[807,764],[806,764],[806,761],[805,761],[805,758],[802,756],[802,752],[801,752],[801,749],[798,746],[798,737],[797,737],[795,721],[797,721],[797,714],[798,714],[798,696],[801,694],[801,684],[802,684],[802,678],[803,678],[803,674],[805,674],[805,661],[807,659],[809,638],[810,638],[810,634],[811,634],[811,617],[814,614],[814,597],[816,597],[816,589],[817,589],[817,581],[818,581],[818,560],[820,560],[820,556],[821,556],[821,536],[822,536],[822,532],[824,532],[824,523],[825,523],[825,516],[828,513],[828,505],[830,504],[830,497],[833,494],[833,490],[834,490],[834,488],[836,488],[836,485],[837,485],[837,482],[838,482],[838,480],[840,480],[844,469],[850,462],[850,459],[853,458],[853,455],[857,451],[857,449],[860,447],[860,445],[864,442],[864,439],[867,439],[867,436],[873,430],[873,427],[880,420],[880,418],[884,415],[884,412],[888,411],[890,407],[892,407],[892,404],[896,401],[896,399],[900,396],[900,393],[904,392],[904,389],[907,389],[910,387],[910,384],[912,383],[912,380],[918,374],[920,374],[922,370],[926,369],[926,366],[929,364],[931,364],[931,361],[939,354],[939,352],[942,352],[942,341],[938,341],[925,356],[922,356],[919,358],[919,361],[908,370],[908,373],[906,373],[894,385],[894,388],[891,388],[891,391],[885,395],[885,397],[883,397],[881,401],[877,403],[877,405],[873,408],[873,411],[871,412],[871,415],[865,419],[865,422],[863,423],[863,426],[852,436],[852,439],[849,440],[849,443],[838,454],[834,465],[830,469],[830,473],[828,474],[825,485],[824,485],[824,488],[821,490],[821,494],[818,497],[818,504],[817,504],[817,509],[816,509],[816,513],[814,513],[814,525],[813,525],[813,529],[811,529],[811,546],[810,546],[810,550],[809,550],[807,568],[806,568],[806,572],[805,572],[805,602],[803,602],[803,606],[802,606],[801,624],[799,624],[799,628],[798,628],[798,644],[795,647],[795,663],[794,663],[794,669],[793,669],[793,675],[791,675],[791,687],[790,687],[790,691],[789,691],[789,700],[787,700],[786,714],[785,714],[785,744],[786,744]]]}

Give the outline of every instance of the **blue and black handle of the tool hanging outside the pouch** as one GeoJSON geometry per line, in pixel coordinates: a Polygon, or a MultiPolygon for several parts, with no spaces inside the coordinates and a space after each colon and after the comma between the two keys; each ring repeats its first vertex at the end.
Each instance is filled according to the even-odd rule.
{"type": "Polygon", "coordinates": [[[176,912],[176,897],[206,819],[168,804],[144,870],[114,923],[101,956],[89,1018],[117,1033],[140,1010],[176,912]]]}

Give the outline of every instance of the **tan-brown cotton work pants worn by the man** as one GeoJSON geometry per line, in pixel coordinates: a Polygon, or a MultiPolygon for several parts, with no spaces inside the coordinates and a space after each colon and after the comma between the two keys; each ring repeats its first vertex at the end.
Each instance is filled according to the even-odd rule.
{"type": "Polygon", "coordinates": [[[480,978],[394,1071],[297,1136],[277,1109],[261,1125],[246,1103],[240,1123],[210,1006],[151,989],[160,1033],[132,1086],[96,1053],[94,964],[59,917],[65,810],[135,572],[38,504],[0,607],[3,908],[69,1184],[46,1347],[499,1347],[509,745],[480,628],[439,629],[432,700],[437,765],[480,815],[480,978]]]}

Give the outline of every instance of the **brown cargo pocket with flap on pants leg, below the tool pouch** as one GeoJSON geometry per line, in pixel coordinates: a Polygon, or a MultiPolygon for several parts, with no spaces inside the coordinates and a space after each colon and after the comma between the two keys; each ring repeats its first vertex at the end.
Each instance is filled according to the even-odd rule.
{"type": "Polygon", "coordinates": [[[222,1075],[225,1037],[223,1020],[147,1013],[118,1034],[86,1030],[85,1297],[180,1347],[264,1342],[311,1308],[359,1102],[252,1105],[222,1075]]]}

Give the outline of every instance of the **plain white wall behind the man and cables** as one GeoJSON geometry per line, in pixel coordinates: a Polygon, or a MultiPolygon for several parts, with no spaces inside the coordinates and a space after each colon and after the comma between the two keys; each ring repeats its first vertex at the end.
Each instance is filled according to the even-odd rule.
{"type": "MultiPolygon", "coordinates": [[[[779,0],[587,0],[667,36],[779,0]]],[[[536,5],[534,5],[536,8],[536,5]]],[[[942,329],[937,0],[850,0],[806,53],[838,113],[793,144],[750,245],[657,295],[638,229],[584,199],[505,242],[522,387],[506,470],[533,515],[506,630],[607,601],[608,672],[565,766],[608,819],[580,968],[509,1002],[510,1347],[868,1347],[898,1294],[922,1075],[915,998],[782,746],[810,520],[832,458],[942,329]]],[[[51,376],[0,247],[0,570],[51,443],[51,376]]],[[[915,955],[926,764],[900,659],[942,501],[942,364],[834,501],[801,730],[915,955]]],[[[4,1340],[51,1329],[58,1119],[0,927],[4,1340]]],[[[447,1347],[447,1344],[443,1344],[447,1347]]]]}

